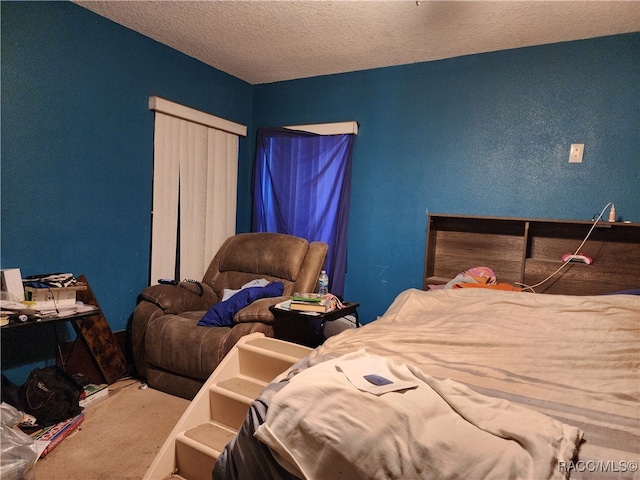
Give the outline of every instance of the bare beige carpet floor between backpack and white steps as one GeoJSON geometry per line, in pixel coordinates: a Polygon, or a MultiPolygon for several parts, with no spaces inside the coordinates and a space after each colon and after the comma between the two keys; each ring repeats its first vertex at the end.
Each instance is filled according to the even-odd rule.
{"type": "Polygon", "coordinates": [[[37,480],[140,480],[189,401],[136,380],[89,404],[80,428],[36,462],[37,480]]]}

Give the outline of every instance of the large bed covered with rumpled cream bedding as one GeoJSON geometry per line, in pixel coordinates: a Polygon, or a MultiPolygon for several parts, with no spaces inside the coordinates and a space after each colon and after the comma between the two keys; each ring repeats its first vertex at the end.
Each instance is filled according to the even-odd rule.
{"type": "Polygon", "coordinates": [[[275,379],[213,476],[640,478],[639,370],[637,295],[408,289],[275,379]]]}

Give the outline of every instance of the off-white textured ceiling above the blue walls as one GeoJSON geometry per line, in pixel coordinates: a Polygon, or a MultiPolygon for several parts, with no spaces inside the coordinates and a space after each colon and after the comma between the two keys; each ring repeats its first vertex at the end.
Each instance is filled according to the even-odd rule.
{"type": "Polygon", "coordinates": [[[640,31],[638,1],[75,1],[251,84],[640,31]]]}

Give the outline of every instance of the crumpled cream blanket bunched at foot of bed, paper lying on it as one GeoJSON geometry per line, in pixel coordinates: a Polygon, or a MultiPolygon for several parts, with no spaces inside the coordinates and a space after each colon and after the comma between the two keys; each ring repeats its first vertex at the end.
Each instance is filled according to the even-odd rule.
{"type": "Polygon", "coordinates": [[[364,350],[319,363],[276,393],[255,437],[300,478],[564,479],[582,432],[507,400],[364,350]],[[369,362],[417,388],[373,395],[339,365],[369,362]],[[337,368],[338,367],[338,368],[337,368]]]}

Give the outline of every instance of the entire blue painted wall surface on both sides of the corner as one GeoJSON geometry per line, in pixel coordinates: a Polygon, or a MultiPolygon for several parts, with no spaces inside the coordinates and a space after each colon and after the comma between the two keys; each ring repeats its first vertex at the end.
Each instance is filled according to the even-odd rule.
{"type": "Polygon", "coordinates": [[[258,86],[68,2],[3,2],[1,34],[0,264],[85,273],[114,331],[149,270],[150,95],[248,126],[238,231],[256,127],[360,123],[345,296],[364,321],[421,286],[427,209],[590,219],[614,201],[640,222],[640,34],[258,86]]]}

